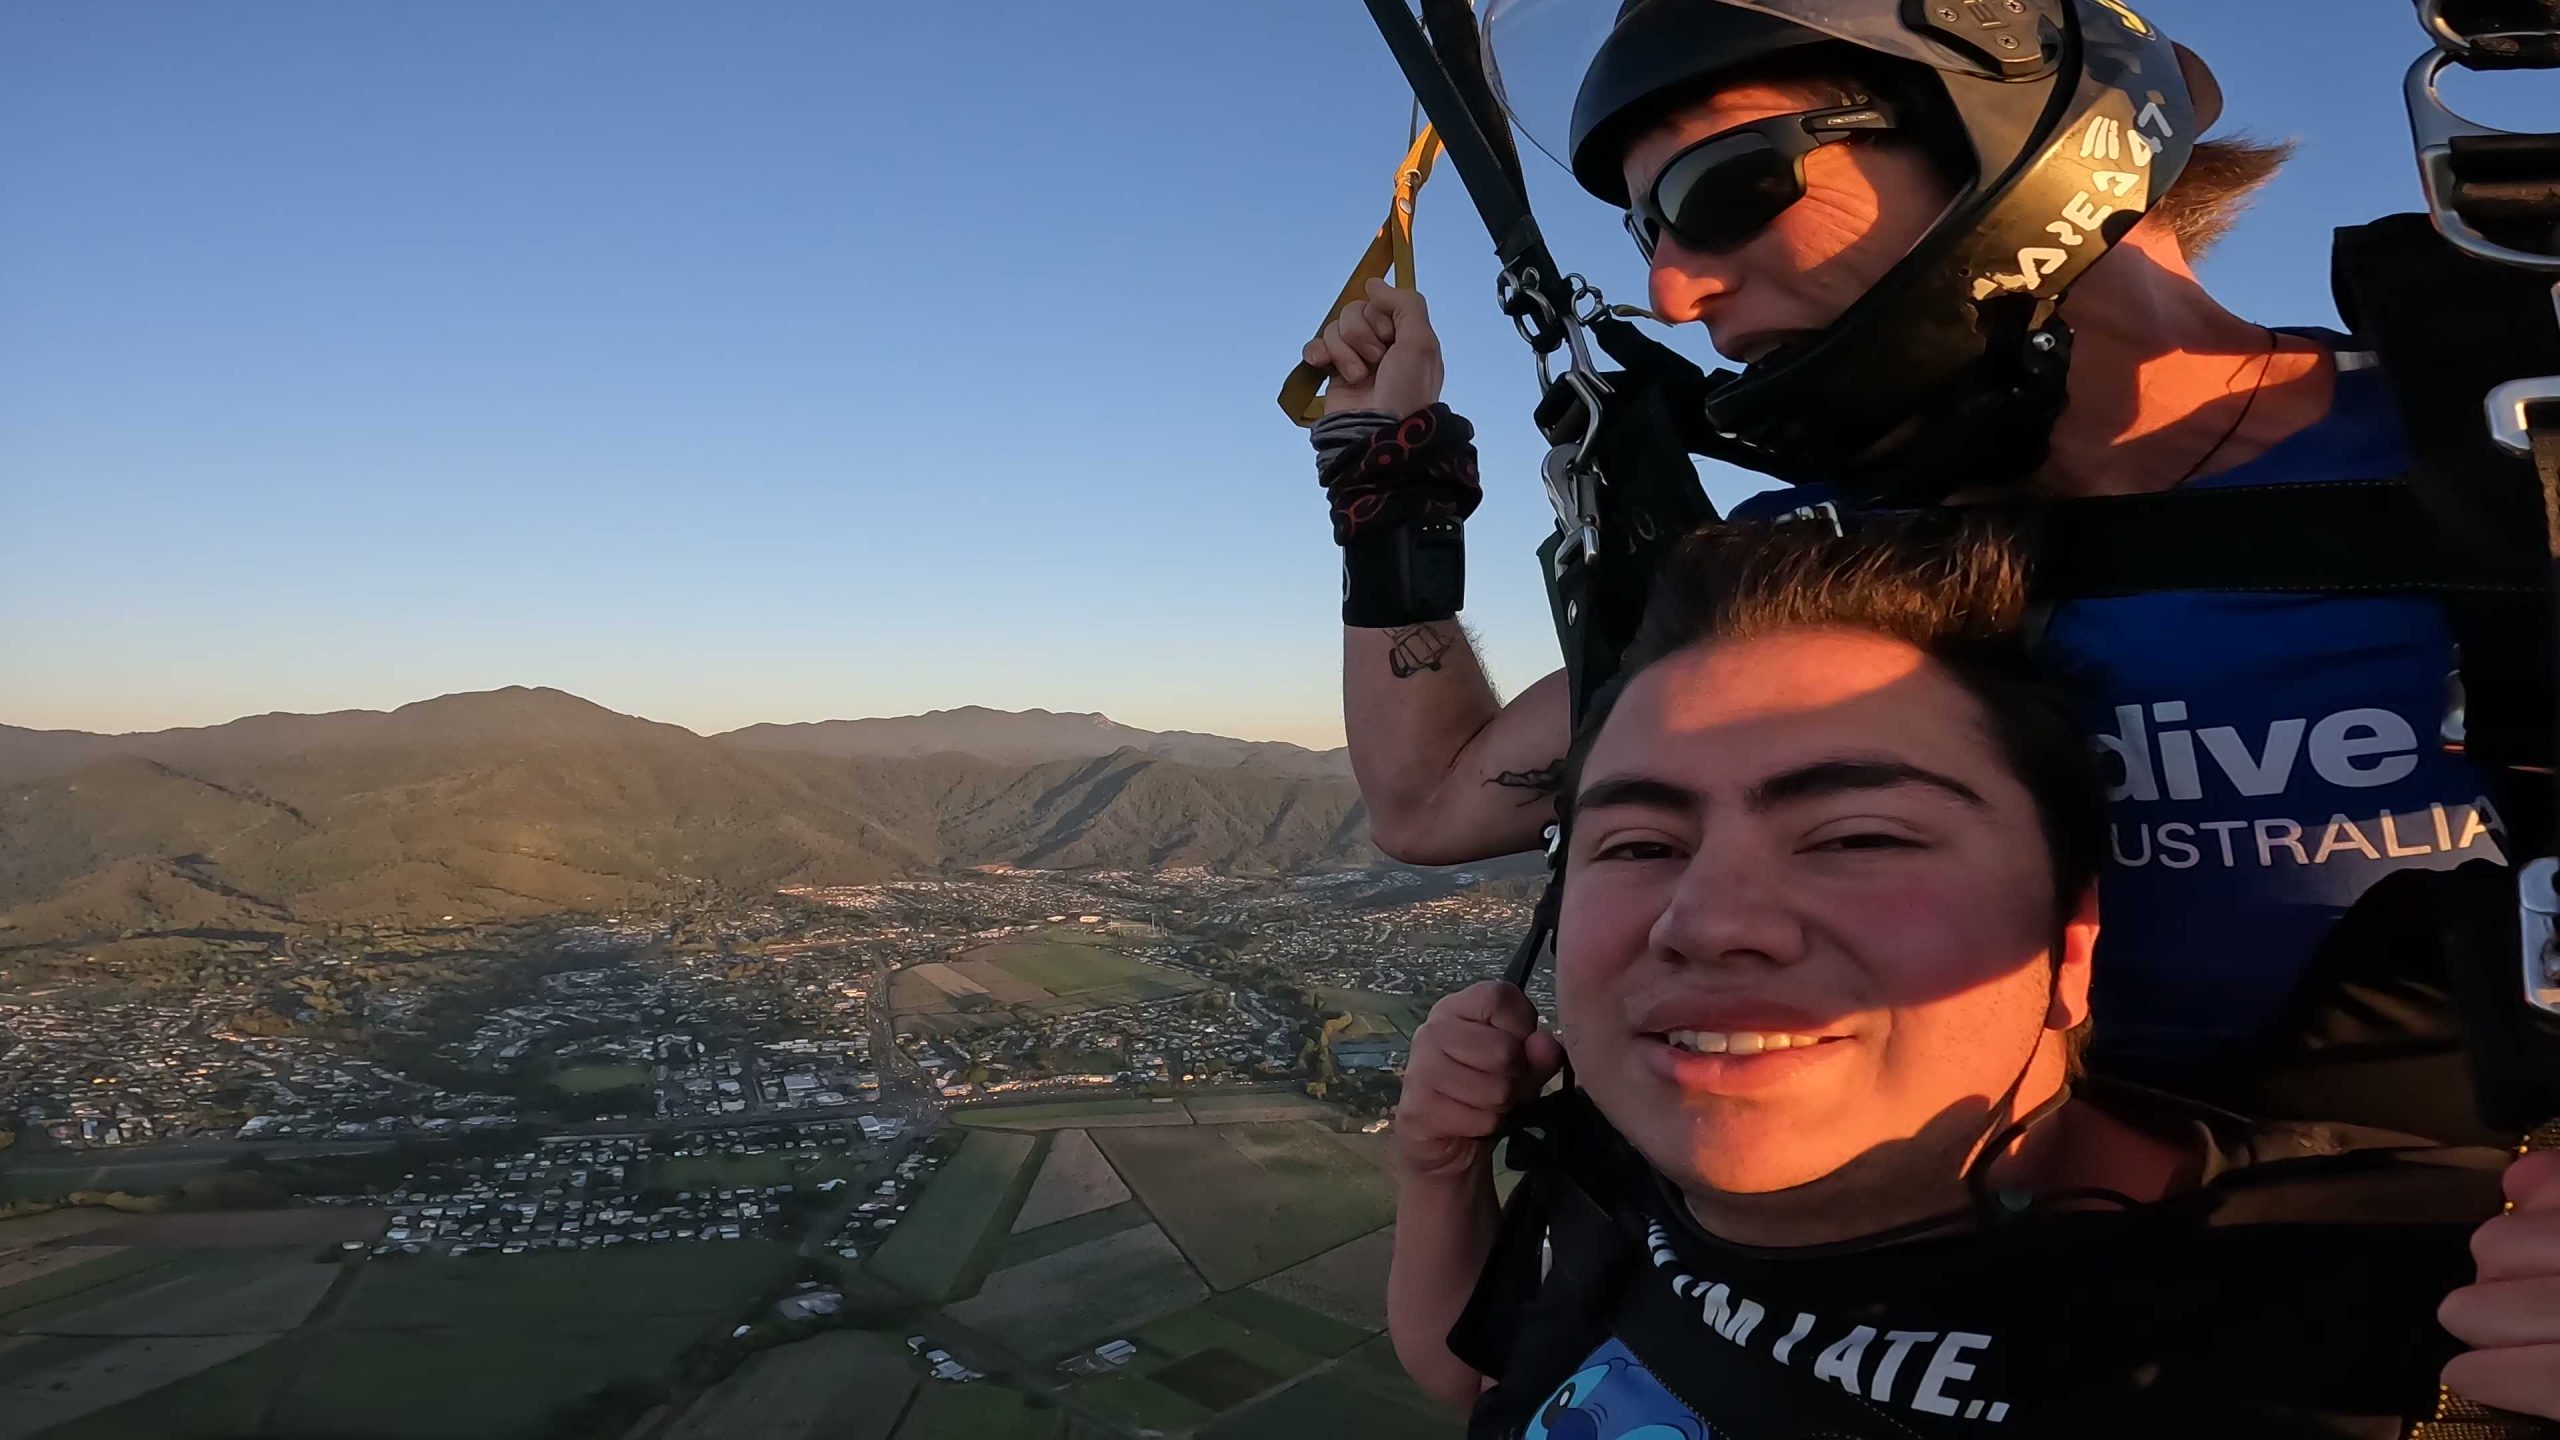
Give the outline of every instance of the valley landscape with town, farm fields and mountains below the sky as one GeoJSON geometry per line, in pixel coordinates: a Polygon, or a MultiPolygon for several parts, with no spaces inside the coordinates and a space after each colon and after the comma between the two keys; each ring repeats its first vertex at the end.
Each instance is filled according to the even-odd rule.
{"type": "Polygon", "coordinates": [[[1382,1338],[1382,1130],[1533,866],[1265,851],[1349,812],[1339,753],[1206,769],[1101,717],[922,717],[1111,746],[1029,766],[740,758],[556,692],[323,720],[0,730],[0,1435],[1454,1432],[1382,1338]],[[497,887],[522,835],[453,822],[532,766],[998,799],[860,884],[753,884],[822,863],[773,817],[625,815],[740,869],[586,907],[622,856],[497,887]],[[1234,835],[1147,820],[1162,787],[1234,835]],[[1213,863],[991,858],[1021,835],[1213,863]]]}

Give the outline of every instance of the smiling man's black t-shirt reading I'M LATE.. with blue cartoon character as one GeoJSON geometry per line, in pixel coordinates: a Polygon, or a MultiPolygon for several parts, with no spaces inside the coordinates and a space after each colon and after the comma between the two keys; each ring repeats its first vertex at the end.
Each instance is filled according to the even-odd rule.
{"type": "Polygon", "coordinates": [[[1874,1248],[1715,1240],[1646,1171],[1605,1204],[1631,1261],[1585,1314],[1531,1309],[1541,1343],[1508,1348],[1523,1373],[1495,1371],[1477,1432],[2381,1440],[2432,1417],[2460,1348],[2435,1309],[2473,1279],[2504,1156],[2135,1109],[2199,1138],[2199,1189],[1874,1248]]]}

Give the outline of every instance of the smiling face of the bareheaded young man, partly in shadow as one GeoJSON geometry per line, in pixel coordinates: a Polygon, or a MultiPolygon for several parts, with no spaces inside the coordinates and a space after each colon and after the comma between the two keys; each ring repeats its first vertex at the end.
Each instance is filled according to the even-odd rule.
{"type": "Polygon", "coordinates": [[[2035,805],[1974,697],[1900,641],[1682,651],[1628,687],[1574,794],[1564,1045],[1692,1197],[1861,1156],[1866,1184],[1948,1184],[1948,1145],[2079,1020],[2094,928],[2056,974],[2035,805]]]}

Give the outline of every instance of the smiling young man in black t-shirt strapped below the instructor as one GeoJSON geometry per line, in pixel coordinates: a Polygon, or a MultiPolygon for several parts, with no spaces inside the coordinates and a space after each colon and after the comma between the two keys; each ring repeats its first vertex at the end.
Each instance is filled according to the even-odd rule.
{"type": "Polygon", "coordinates": [[[2560,1412],[2545,1161],[2511,1248],[2499,1153],[2074,1092],[2104,799],[2020,569],[1812,525],[1674,561],[1567,766],[1564,1040],[1485,984],[1405,1076],[1390,1325],[1480,1435],[2396,1437],[2440,1376],[2560,1412]],[[1567,1051],[1533,1125],[1585,1220],[1459,1325],[1490,1138],[1567,1051]]]}

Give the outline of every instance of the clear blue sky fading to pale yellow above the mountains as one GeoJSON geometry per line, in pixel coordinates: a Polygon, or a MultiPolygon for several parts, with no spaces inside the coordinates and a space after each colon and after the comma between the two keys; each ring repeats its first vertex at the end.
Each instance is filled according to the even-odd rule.
{"type": "MultiPolygon", "coordinates": [[[[2207,282],[2324,323],[2327,231],[2414,205],[2406,3],[2150,13],[2225,128],[2304,141],[2207,282]]],[[[1403,126],[1357,0],[0,5],[0,723],[556,684],[1336,743],[1270,397],[1403,126]]],[[[1633,284],[1531,159],[1567,264],[1633,284]]],[[[1549,520],[1454,174],[1421,264],[1518,689],[1549,520]]]]}

